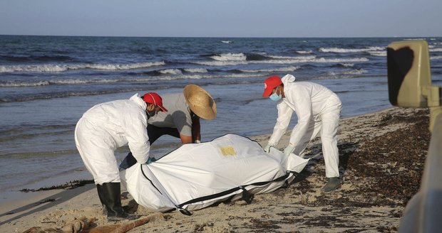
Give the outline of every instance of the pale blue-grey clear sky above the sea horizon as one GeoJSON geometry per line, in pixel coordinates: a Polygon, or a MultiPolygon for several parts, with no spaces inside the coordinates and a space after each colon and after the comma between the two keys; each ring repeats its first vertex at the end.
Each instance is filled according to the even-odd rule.
{"type": "Polygon", "coordinates": [[[0,35],[442,36],[442,0],[0,0],[0,35]]]}

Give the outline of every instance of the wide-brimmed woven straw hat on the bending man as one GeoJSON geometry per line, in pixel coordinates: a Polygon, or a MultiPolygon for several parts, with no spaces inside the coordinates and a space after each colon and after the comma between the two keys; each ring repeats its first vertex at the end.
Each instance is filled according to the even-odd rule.
{"type": "Polygon", "coordinates": [[[190,84],[184,87],[183,94],[193,113],[202,119],[215,119],[217,105],[206,90],[198,85],[190,84]]]}

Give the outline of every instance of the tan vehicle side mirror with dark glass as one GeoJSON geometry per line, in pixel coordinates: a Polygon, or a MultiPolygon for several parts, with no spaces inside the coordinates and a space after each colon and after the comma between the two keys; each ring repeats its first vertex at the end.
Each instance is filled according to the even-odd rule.
{"type": "Polygon", "coordinates": [[[431,85],[426,40],[404,40],[387,47],[389,100],[400,107],[440,106],[439,87],[431,85]]]}

